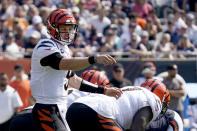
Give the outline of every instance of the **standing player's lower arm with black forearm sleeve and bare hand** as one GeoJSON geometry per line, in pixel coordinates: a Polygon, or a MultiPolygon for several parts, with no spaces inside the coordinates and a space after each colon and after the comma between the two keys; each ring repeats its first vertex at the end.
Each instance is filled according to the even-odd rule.
{"type": "Polygon", "coordinates": [[[70,74],[70,76],[67,76],[67,78],[69,79],[68,85],[80,91],[105,94],[107,96],[115,97],[116,99],[118,99],[122,94],[122,91],[119,88],[106,88],[103,86],[98,86],[83,80],[73,73],[70,74]]]}

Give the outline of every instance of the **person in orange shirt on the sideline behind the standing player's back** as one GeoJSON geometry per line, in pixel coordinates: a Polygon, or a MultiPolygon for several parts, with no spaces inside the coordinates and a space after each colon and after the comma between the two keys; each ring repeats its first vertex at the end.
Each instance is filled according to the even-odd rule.
{"type": "Polygon", "coordinates": [[[23,79],[23,74],[23,66],[15,65],[14,76],[16,79],[10,82],[10,86],[18,92],[23,102],[23,106],[19,108],[19,111],[22,111],[24,108],[34,104],[34,99],[31,94],[30,81],[28,79],[23,79]]]}

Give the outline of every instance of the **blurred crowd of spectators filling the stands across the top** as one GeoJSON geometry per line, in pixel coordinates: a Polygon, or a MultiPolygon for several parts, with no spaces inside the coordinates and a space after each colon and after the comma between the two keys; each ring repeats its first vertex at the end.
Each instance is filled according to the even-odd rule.
{"type": "Polygon", "coordinates": [[[197,54],[197,0],[0,0],[0,56],[31,58],[47,33],[46,18],[70,9],[78,35],[73,56],[188,58],[197,54]],[[2,53],[3,52],[3,53],[2,53]]]}

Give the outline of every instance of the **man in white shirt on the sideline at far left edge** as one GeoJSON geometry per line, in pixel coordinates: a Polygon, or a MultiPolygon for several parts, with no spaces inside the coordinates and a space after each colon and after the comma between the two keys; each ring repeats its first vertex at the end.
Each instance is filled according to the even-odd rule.
{"type": "Polygon", "coordinates": [[[13,115],[19,112],[23,105],[18,93],[8,85],[8,76],[0,74],[0,130],[9,131],[9,124],[13,115]]]}

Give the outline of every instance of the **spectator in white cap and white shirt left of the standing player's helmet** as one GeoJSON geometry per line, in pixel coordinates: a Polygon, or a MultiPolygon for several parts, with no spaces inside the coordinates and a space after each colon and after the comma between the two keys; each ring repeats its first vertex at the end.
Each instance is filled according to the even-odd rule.
{"type": "Polygon", "coordinates": [[[27,28],[26,38],[29,38],[29,36],[34,31],[39,31],[41,33],[42,38],[45,38],[45,37],[49,38],[50,37],[49,34],[47,33],[47,28],[46,28],[46,26],[43,25],[42,18],[39,15],[33,17],[32,25],[30,25],[27,28]]]}

